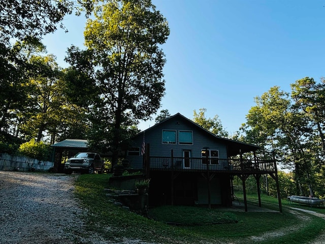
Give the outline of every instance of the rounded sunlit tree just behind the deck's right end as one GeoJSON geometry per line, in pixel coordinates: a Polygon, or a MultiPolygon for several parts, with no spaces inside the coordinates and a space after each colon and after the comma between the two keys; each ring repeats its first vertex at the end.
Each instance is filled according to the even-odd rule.
{"type": "Polygon", "coordinates": [[[278,86],[271,87],[255,102],[242,126],[247,141],[264,146],[266,155],[276,150],[282,164],[294,170],[297,192],[313,195],[312,134],[307,117],[278,86]]]}

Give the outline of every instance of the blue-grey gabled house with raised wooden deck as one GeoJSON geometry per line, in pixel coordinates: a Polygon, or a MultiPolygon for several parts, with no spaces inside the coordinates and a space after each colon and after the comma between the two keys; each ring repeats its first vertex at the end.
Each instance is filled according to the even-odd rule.
{"type": "MultiPolygon", "coordinates": [[[[136,135],[125,158],[132,168],[143,169],[151,178],[150,205],[231,206],[232,178],[238,175],[247,211],[245,180],[249,175],[255,176],[259,188],[261,175],[270,174],[278,188],[275,160],[256,159],[258,149],[261,147],[216,136],[177,113],[136,135]],[[246,153],[253,159],[244,159],[246,153]]],[[[259,191],[258,198],[261,206],[259,191]]],[[[280,199],[279,207],[281,211],[280,199]]]]}

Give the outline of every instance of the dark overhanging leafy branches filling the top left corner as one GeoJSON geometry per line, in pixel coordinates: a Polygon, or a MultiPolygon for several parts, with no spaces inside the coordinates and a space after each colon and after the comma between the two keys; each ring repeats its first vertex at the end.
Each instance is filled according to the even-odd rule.
{"type": "Polygon", "coordinates": [[[16,41],[29,38],[41,39],[53,33],[57,25],[64,28],[63,18],[76,10],[89,15],[93,9],[92,0],[26,1],[6,0],[0,2],[0,40],[5,46],[10,39],[16,41]]]}

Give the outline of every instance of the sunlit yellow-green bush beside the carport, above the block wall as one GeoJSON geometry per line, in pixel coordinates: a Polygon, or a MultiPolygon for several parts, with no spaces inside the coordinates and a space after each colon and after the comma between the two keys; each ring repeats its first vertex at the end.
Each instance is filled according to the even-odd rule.
{"type": "Polygon", "coordinates": [[[18,153],[33,159],[49,160],[51,148],[50,145],[47,145],[42,141],[37,142],[35,139],[31,139],[19,146],[18,153]]]}

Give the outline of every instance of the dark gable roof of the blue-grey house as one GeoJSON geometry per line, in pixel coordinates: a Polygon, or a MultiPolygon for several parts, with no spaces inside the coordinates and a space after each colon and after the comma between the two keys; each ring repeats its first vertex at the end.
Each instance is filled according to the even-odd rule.
{"type": "MultiPolygon", "coordinates": [[[[194,123],[192,120],[186,118],[185,116],[183,116],[180,113],[177,113],[177,114],[175,114],[173,116],[170,116],[169,118],[161,121],[158,124],[155,124],[154,126],[144,130],[143,132],[145,133],[146,131],[150,131],[150,130],[154,129],[158,125],[168,123],[168,121],[170,119],[172,119],[172,118],[180,118],[180,119],[186,120],[188,123],[190,123],[197,130],[201,130],[207,136],[211,136],[215,140],[221,141],[222,143],[226,144],[226,146],[228,148],[228,155],[229,156],[239,155],[240,153],[248,153],[250,151],[256,151],[256,150],[262,148],[261,146],[256,146],[256,145],[253,145],[253,144],[244,143],[244,142],[240,142],[240,141],[231,140],[231,139],[228,139],[228,138],[223,138],[223,137],[217,136],[217,135],[211,133],[210,131],[204,129],[203,127],[199,126],[198,124],[194,123]]],[[[138,135],[142,134],[143,132],[139,133],[138,135]]]]}

